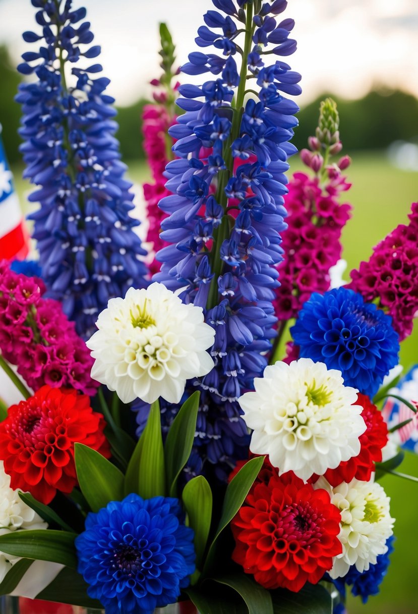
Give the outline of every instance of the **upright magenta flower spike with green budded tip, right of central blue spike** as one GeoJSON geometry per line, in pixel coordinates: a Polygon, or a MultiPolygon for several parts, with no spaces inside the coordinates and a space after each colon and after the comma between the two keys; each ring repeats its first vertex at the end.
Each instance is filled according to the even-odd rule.
{"type": "Polygon", "coordinates": [[[281,321],[297,317],[313,292],[330,289],[330,268],[341,257],[341,231],[350,217],[351,206],[340,204],[351,187],[341,171],[349,166],[344,156],[331,163],[342,148],[335,102],[322,101],[316,136],[308,139],[310,150],[300,157],[313,176],[295,173],[285,197],[288,212],[283,233],[284,260],[279,263],[281,285],[276,289],[275,312],[281,321]]]}

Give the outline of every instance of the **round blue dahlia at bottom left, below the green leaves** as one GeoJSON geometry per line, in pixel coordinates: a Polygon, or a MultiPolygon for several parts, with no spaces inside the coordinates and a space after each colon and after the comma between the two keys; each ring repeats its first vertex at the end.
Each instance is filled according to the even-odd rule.
{"type": "Polygon", "coordinates": [[[148,614],[177,601],[194,572],[193,531],[178,499],[130,494],[89,513],[75,539],[78,572],[106,614],[148,614]]]}

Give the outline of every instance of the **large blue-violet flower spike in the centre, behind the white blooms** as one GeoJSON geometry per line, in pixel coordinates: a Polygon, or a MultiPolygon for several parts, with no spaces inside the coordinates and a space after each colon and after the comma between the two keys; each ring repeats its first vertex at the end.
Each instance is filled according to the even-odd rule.
{"type": "MultiPolygon", "coordinates": [[[[298,110],[283,94],[301,90],[300,75],[281,60],[295,49],[289,39],[294,21],[274,17],[286,1],[213,4],[219,10],[203,16],[196,38],[204,52],[191,53],[182,71],[210,72],[215,79],[179,87],[177,104],[186,112],[169,133],[180,159],[167,165],[172,195],[160,202],[170,214],[161,238],[170,245],[157,255],[162,266],[154,279],[207,309],[206,321],[215,328],[215,368],[188,392],[202,390],[196,445],[222,473],[222,461],[231,467],[246,454],[237,398],[261,375],[275,335],[284,172],[295,152],[288,141],[298,110]],[[207,53],[211,45],[216,53],[207,53]]],[[[144,413],[138,414],[142,424],[144,413]]],[[[164,418],[169,422],[172,413],[164,418]]]]}

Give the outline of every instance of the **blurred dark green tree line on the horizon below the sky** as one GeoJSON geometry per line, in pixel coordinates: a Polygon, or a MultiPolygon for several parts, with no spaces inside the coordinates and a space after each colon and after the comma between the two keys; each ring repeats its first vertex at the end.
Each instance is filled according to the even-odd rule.
{"type": "MultiPolygon", "coordinates": [[[[20,106],[13,98],[17,93],[20,76],[10,62],[6,47],[0,46],[0,123],[2,138],[10,163],[21,161],[18,152],[20,106]]],[[[299,126],[292,142],[298,149],[306,147],[310,134],[314,133],[319,114],[319,103],[331,96],[338,104],[340,113],[340,135],[344,152],[359,149],[381,149],[397,140],[418,139],[418,100],[403,91],[370,91],[359,100],[343,100],[326,93],[308,104],[298,114],[299,126]]],[[[142,149],[141,116],[147,101],[141,99],[129,107],[118,108],[118,139],[124,160],[141,160],[142,149]]]]}

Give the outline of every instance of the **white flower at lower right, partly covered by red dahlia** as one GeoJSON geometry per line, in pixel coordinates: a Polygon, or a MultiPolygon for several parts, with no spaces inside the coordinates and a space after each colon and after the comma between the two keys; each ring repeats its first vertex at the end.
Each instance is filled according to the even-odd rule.
{"type": "Polygon", "coordinates": [[[314,488],[324,488],[330,493],[331,503],[341,513],[341,530],[338,539],[343,551],[334,557],[329,573],[341,578],[355,565],[359,572],[376,564],[379,554],[387,551],[386,541],[393,534],[390,517],[390,499],[377,482],[352,480],[332,488],[325,478],[319,478],[314,488]]]}

